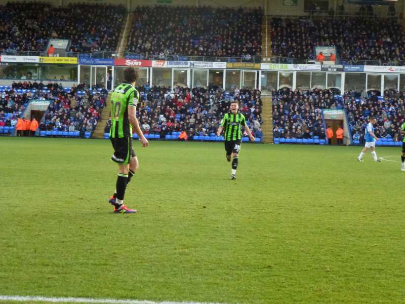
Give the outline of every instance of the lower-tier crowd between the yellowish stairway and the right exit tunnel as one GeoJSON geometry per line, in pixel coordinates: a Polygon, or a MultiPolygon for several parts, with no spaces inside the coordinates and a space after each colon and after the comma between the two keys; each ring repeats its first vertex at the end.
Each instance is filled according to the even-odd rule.
{"type": "Polygon", "coordinates": [[[273,92],[273,137],[325,139],[325,122],[321,109],[336,106],[330,90],[273,92]]]}

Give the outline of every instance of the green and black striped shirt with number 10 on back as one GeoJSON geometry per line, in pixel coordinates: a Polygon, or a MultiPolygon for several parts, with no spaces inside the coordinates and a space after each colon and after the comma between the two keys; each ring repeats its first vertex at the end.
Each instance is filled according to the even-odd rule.
{"type": "Polygon", "coordinates": [[[110,137],[132,136],[128,107],[136,106],[138,100],[139,92],[130,84],[120,84],[112,91],[110,137]]]}

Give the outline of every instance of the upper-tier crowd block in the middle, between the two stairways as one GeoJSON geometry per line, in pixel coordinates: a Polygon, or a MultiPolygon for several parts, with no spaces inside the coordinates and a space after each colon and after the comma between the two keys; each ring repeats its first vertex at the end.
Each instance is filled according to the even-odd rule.
{"type": "Polygon", "coordinates": [[[260,56],[262,15],[247,8],[138,7],[127,51],[161,59],[260,56]]]}

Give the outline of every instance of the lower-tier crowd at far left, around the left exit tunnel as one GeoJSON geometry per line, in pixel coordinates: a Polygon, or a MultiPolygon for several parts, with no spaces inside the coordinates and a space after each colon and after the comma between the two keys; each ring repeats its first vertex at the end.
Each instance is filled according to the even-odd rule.
{"type": "Polygon", "coordinates": [[[80,131],[80,135],[84,136],[85,132],[94,131],[99,122],[108,92],[105,89],[90,91],[85,84],[64,90],[57,83],[43,85],[41,82],[38,85],[24,82],[13,83],[9,91],[0,94],[0,126],[1,122],[5,123],[4,126],[15,126],[24,111],[24,104],[30,100],[52,100],[39,130],[80,131]],[[32,90],[34,88],[37,90],[32,90]]]}

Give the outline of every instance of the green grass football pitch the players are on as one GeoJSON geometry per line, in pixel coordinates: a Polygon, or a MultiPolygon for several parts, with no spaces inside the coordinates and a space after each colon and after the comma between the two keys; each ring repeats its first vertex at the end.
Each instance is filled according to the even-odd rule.
{"type": "Polygon", "coordinates": [[[244,143],[236,180],[223,143],[134,148],[124,215],[108,140],[0,137],[0,304],[405,302],[400,147],[244,143]]]}

